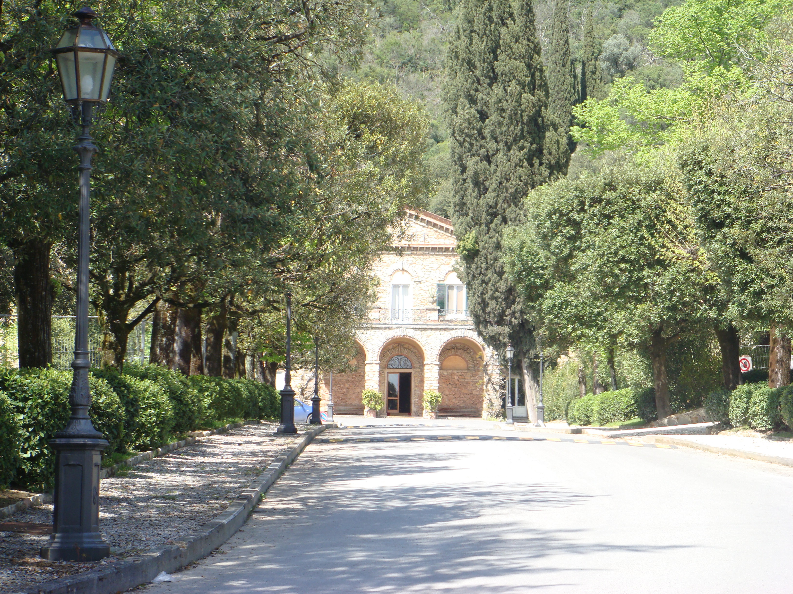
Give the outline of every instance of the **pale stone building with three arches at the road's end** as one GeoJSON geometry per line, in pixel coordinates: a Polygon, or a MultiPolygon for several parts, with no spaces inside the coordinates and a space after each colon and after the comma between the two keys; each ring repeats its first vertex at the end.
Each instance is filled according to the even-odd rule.
{"type": "MultiPolygon", "coordinates": [[[[362,414],[364,389],[383,394],[380,416],[421,417],[424,390],[442,394],[441,415],[498,413],[498,358],[473,329],[465,285],[454,271],[456,244],[449,219],[408,211],[404,233],[374,266],[380,286],[358,333],[354,371],[320,379],[323,410],[332,382],[335,414],[362,414]]],[[[292,386],[307,400],[313,377],[300,374],[292,386]]]]}

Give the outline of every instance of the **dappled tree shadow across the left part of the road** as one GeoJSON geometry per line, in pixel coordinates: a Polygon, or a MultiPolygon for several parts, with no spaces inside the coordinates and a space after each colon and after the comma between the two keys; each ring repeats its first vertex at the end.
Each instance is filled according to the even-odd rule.
{"type": "MultiPolygon", "coordinates": [[[[394,445],[312,446],[259,506],[245,541],[224,556],[211,591],[506,594],[542,584],[566,592],[581,584],[569,583],[570,573],[554,580],[554,573],[571,569],[569,561],[554,567],[558,555],[676,548],[599,543],[581,530],[516,526],[513,520],[532,512],[596,497],[556,484],[461,480],[469,453],[394,445]],[[531,579],[540,573],[540,581],[531,579]]],[[[179,592],[201,588],[190,580],[179,586],[179,592]]]]}

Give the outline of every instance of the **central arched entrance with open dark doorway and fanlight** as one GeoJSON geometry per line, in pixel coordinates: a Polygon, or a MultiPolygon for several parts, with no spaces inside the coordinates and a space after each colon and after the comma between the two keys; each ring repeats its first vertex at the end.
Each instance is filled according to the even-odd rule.
{"type": "Polygon", "coordinates": [[[412,416],[421,414],[424,390],[424,357],[421,346],[400,337],[386,344],[380,354],[381,393],[385,413],[412,416]]]}

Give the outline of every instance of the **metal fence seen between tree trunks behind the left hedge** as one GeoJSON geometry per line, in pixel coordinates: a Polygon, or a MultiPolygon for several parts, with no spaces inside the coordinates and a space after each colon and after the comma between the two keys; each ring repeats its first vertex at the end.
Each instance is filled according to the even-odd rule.
{"type": "MultiPolygon", "coordinates": [[[[127,341],[127,361],[147,364],[151,341],[151,325],[140,322],[127,341]]],[[[75,316],[52,316],[52,367],[70,369],[75,359],[75,316]]],[[[88,320],[88,358],[91,367],[102,363],[102,328],[96,316],[88,320]]],[[[19,367],[17,316],[0,315],[0,367],[19,367]]]]}

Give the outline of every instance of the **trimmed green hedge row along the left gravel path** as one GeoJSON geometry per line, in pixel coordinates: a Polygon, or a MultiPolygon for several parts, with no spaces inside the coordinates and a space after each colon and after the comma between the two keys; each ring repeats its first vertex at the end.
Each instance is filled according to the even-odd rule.
{"type": "MultiPolygon", "coordinates": [[[[249,379],[185,377],[156,365],[92,370],[91,421],[109,441],[103,455],[147,450],[185,432],[234,419],[278,417],[273,386],[249,379]]],[[[71,371],[0,371],[0,487],[52,489],[48,447],[69,418],[71,371]]]]}

